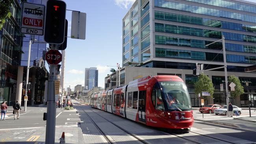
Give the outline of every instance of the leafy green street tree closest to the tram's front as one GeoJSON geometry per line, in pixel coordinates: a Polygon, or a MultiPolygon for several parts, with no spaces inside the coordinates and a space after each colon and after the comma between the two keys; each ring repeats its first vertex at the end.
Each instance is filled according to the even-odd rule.
{"type": "Polygon", "coordinates": [[[200,74],[198,80],[194,85],[195,94],[201,94],[202,92],[209,92],[210,96],[202,96],[204,99],[213,98],[214,87],[211,79],[205,74],[200,74]]]}

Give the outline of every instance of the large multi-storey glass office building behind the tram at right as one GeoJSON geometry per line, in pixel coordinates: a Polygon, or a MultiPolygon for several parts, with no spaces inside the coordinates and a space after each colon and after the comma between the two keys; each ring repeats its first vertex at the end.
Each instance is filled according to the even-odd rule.
{"type": "MultiPolygon", "coordinates": [[[[228,75],[236,75],[241,82],[252,82],[249,100],[254,105],[256,84],[253,81],[256,76],[245,73],[245,68],[256,63],[256,3],[242,0],[136,0],[122,24],[122,65],[143,63],[145,67],[169,68],[170,74],[172,69],[183,70],[183,73],[191,70],[186,71],[182,79],[195,101],[193,84],[197,76],[192,75],[192,70],[196,63],[204,64],[204,69],[224,65],[222,42],[206,46],[224,35],[228,75]]],[[[221,71],[224,69],[211,71],[208,76],[215,85],[214,103],[224,104],[219,86],[224,83],[224,72],[217,74],[221,71]]],[[[240,100],[241,105],[246,105],[247,95],[243,94],[240,100]]]]}

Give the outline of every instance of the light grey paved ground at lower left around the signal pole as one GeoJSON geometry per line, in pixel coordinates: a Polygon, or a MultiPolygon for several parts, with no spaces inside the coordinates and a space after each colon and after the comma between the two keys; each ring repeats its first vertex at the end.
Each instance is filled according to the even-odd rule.
{"type": "MultiPolygon", "coordinates": [[[[9,114],[5,121],[0,121],[0,144],[45,144],[44,112],[46,107],[27,107],[27,112],[22,112],[19,120],[13,120],[13,114],[9,114]]],[[[59,144],[62,132],[65,132],[66,144],[84,144],[76,109],[58,108],[56,117],[55,144],[59,144]]]]}

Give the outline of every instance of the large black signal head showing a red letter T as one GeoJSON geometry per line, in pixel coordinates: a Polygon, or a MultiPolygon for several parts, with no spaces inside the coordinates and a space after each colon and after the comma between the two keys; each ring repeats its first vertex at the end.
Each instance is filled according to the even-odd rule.
{"type": "Polygon", "coordinates": [[[65,36],[66,3],[48,0],[46,6],[45,41],[62,44],[65,36]]]}

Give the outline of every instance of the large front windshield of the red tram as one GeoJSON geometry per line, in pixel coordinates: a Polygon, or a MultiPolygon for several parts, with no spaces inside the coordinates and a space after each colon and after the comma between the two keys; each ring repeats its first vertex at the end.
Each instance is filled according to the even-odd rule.
{"type": "Polygon", "coordinates": [[[169,111],[190,111],[191,102],[187,87],[180,81],[160,81],[169,111]]]}

